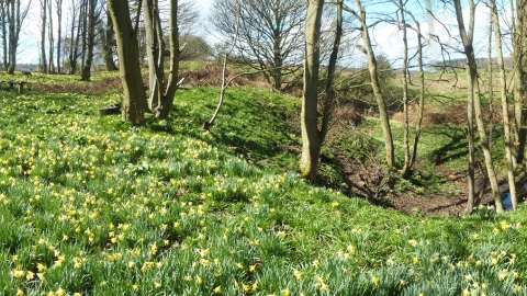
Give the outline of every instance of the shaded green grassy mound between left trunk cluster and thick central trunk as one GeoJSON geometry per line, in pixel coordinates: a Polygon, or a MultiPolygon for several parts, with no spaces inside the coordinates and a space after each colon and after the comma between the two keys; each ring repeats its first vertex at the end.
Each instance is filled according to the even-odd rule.
{"type": "Polygon", "coordinates": [[[214,114],[217,96],[214,88],[180,91],[172,119],[154,123],[150,128],[227,148],[254,164],[296,170],[293,163],[299,156],[291,151],[300,145],[300,132],[293,126],[300,101],[264,89],[232,88],[214,125],[205,132],[203,123],[214,114]]]}

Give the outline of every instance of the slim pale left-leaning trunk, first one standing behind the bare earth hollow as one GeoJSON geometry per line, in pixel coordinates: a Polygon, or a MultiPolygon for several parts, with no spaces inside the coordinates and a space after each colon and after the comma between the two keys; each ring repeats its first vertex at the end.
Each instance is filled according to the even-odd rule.
{"type": "Polygon", "coordinates": [[[368,55],[368,68],[370,70],[371,88],[373,89],[373,95],[375,96],[377,104],[379,105],[379,117],[381,119],[381,126],[384,133],[386,163],[389,167],[395,167],[395,151],[393,147],[392,129],[390,127],[390,119],[388,116],[386,103],[384,102],[384,96],[382,95],[382,91],[379,82],[379,71],[377,69],[375,54],[373,53],[373,48],[371,46],[370,34],[368,31],[368,25],[366,23],[367,21],[366,11],[360,0],[356,0],[356,2],[360,11],[359,21],[361,23],[362,39],[365,41],[366,53],[368,55]]]}

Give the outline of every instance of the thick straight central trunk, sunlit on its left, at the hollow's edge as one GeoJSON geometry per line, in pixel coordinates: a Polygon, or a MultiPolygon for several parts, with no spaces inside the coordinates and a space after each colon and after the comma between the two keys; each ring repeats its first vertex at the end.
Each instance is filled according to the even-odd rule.
{"type": "Polygon", "coordinates": [[[324,0],[310,0],[305,21],[304,95],[302,100],[302,158],[303,178],[316,181],[316,168],[322,148],[317,126],[318,69],[321,56],[321,26],[324,0]]]}

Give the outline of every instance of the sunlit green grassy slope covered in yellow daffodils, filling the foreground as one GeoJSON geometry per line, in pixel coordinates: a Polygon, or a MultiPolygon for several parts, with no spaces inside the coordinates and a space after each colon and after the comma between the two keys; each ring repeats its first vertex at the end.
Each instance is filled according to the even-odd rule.
{"type": "Polygon", "coordinates": [[[296,99],[229,89],[203,133],[218,90],[181,90],[135,128],[98,115],[119,91],[76,91],[112,77],[25,79],[0,92],[1,295],[525,294],[525,208],[423,219],[305,184],[296,99]]]}

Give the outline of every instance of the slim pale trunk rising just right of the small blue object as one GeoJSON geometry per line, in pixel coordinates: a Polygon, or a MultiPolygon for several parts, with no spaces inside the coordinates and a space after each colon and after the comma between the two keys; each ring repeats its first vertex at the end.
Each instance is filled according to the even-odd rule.
{"type": "Polygon", "coordinates": [[[500,82],[502,94],[502,112],[503,112],[503,128],[505,132],[505,157],[507,160],[507,179],[508,190],[511,194],[511,201],[513,202],[513,208],[517,207],[516,198],[516,182],[514,180],[514,161],[513,161],[513,143],[511,140],[511,121],[508,118],[508,100],[507,100],[507,78],[505,73],[505,66],[503,62],[503,49],[502,49],[502,30],[500,27],[500,16],[497,15],[496,2],[491,0],[492,16],[496,27],[494,32],[496,34],[496,54],[497,54],[497,67],[500,68],[500,82]]]}

